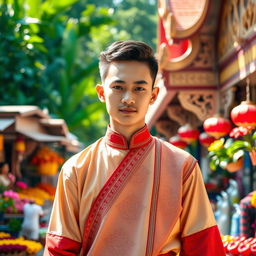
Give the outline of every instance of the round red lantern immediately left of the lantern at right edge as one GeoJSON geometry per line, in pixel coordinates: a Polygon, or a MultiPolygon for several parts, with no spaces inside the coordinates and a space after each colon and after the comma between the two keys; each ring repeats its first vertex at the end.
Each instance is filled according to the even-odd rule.
{"type": "Polygon", "coordinates": [[[206,119],[203,126],[205,132],[215,139],[227,135],[232,128],[231,122],[228,119],[219,116],[206,119]]]}

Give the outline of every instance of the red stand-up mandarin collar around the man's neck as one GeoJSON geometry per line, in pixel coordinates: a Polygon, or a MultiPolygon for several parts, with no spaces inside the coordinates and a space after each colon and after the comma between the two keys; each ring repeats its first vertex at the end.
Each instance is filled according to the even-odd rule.
{"type": "Polygon", "coordinates": [[[135,149],[146,146],[153,139],[149,133],[147,125],[145,125],[141,130],[137,131],[132,135],[130,145],[128,145],[128,142],[124,135],[113,131],[110,126],[108,126],[105,138],[106,143],[110,147],[123,150],[135,149]]]}

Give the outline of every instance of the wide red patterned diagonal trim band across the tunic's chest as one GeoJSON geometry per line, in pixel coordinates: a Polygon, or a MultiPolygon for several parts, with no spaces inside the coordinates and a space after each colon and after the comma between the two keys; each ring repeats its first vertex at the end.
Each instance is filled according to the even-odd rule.
{"type": "Polygon", "coordinates": [[[147,152],[153,146],[130,150],[105,183],[94,200],[85,222],[82,252],[87,254],[99,230],[103,217],[107,214],[115,198],[119,195],[133,171],[138,169],[147,152]]]}

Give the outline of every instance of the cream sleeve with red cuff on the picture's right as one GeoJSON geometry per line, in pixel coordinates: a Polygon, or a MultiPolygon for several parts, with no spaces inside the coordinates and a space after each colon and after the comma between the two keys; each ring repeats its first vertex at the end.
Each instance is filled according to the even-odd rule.
{"type": "Polygon", "coordinates": [[[198,165],[184,184],[182,205],[180,256],[225,256],[198,165]]]}

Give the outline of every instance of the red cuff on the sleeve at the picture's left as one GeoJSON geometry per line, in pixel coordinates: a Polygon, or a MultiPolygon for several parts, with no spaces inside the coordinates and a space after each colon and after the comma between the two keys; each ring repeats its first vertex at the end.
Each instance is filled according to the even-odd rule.
{"type": "Polygon", "coordinates": [[[64,236],[47,233],[44,256],[77,256],[81,243],[64,236]]]}

